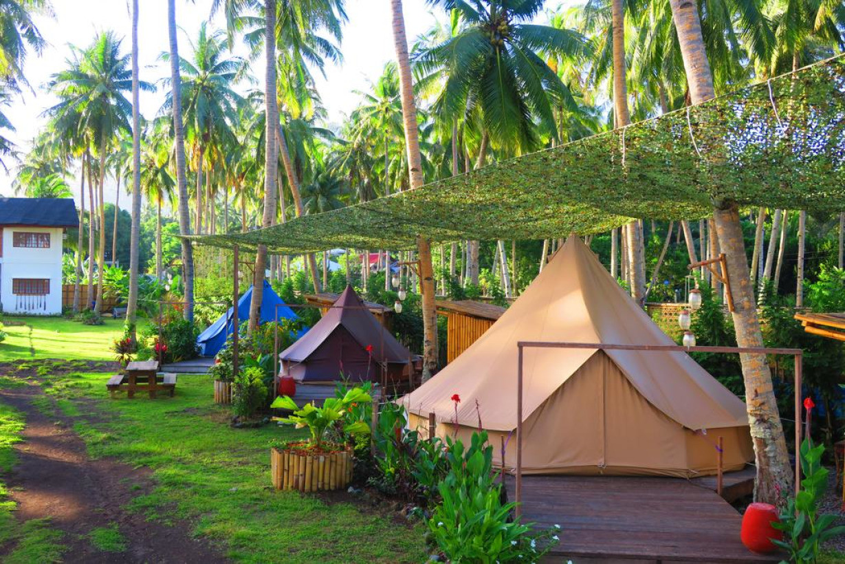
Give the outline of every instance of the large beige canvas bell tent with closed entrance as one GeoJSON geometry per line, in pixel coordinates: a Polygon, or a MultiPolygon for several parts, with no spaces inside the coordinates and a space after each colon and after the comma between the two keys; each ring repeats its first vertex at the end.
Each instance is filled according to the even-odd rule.
{"type": "MultiPolygon", "coordinates": [[[[402,398],[410,423],[466,438],[480,424],[496,463],[500,437],[515,467],[518,341],[673,344],[570,237],[525,293],[475,343],[402,398]]],[[[726,471],[754,457],[744,402],[686,353],[526,348],[522,468],[526,474],[691,477],[715,474],[717,437],[726,471]]]]}

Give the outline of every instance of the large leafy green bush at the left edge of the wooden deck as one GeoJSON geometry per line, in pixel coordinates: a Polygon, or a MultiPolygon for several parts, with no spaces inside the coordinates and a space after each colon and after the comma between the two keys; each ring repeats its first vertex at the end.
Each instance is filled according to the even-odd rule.
{"type": "Polygon", "coordinates": [[[440,481],[441,501],[428,520],[434,542],[451,562],[539,561],[558,540],[557,528],[536,533],[531,524],[512,520],[515,503],[504,503],[493,446],[487,432],[461,441],[446,439],[449,472],[440,481]]]}

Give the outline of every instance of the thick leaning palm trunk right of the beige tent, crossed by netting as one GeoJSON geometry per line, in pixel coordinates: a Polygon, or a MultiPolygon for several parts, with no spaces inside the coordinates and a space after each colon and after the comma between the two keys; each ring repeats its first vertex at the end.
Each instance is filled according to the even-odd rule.
{"type": "MultiPolygon", "coordinates": [[[[710,63],[701,36],[698,5],[688,0],[670,0],[675,29],[687,74],[687,84],[694,104],[715,96],[710,63]]],[[[740,347],[762,347],[763,335],[751,286],[748,258],[745,255],[739,206],[723,200],[714,206],[713,218],[722,250],[728,261],[733,292],[733,326],[740,347]]],[[[741,354],[751,437],[754,441],[757,479],[755,501],[782,505],[782,492],[792,489],[792,470],[783,435],[777,402],[766,356],[741,354]]]]}

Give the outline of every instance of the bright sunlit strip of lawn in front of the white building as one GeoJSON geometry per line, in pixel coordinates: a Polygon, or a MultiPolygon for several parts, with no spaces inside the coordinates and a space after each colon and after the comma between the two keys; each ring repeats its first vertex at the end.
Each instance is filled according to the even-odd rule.
{"type": "Polygon", "coordinates": [[[0,322],[7,337],[0,342],[0,362],[114,360],[112,342],[123,335],[123,320],[103,321],[103,325],[89,326],[63,317],[2,317],[0,322]]]}

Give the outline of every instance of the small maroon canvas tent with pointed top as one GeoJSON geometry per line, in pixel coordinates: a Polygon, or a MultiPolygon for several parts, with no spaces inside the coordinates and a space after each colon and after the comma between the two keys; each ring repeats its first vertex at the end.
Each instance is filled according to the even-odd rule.
{"type": "Polygon", "coordinates": [[[323,319],[282,351],[279,359],[281,375],[300,382],[387,383],[402,378],[411,353],[347,286],[323,319]]]}

